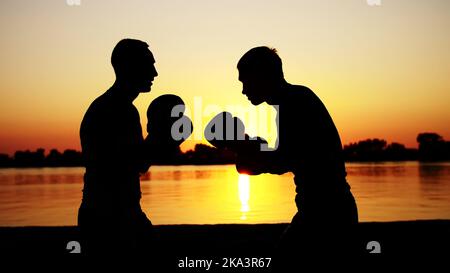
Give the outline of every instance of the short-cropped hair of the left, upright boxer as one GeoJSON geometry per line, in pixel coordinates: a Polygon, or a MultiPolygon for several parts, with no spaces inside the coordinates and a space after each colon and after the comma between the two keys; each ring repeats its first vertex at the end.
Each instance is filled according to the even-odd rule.
{"type": "Polygon", "coordinates": [[[146,42],[135,39],[120,40],[111,54],[111,64],[114,71],[120,73],[121,69],[138,62],[142,55],[149,51],[146,42]]]}

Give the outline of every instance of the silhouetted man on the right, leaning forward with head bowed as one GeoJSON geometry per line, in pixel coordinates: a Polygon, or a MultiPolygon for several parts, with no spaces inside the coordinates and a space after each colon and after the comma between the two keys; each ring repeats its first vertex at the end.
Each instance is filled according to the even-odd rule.
{"type": "Polygon", "coordinates": [[[238,171],[295,175],[298,212],[280,248],[317,254],[345,249],[358,215],[341,140],[327,109],[309,88],[286,82],[275,49],[253,48],[237,68],[242,94],[252,104],[278,106],[278,149],[238,153],[238,171]]]}

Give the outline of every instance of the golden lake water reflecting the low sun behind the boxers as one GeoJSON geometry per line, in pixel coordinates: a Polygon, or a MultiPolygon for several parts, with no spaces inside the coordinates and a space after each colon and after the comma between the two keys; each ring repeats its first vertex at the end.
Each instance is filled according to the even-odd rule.
{"type": "MultiPolygon", "coordinates": [[[[450,219],[450,162],[347,163],[360,221],[450,219]]],[[[0,169],[0,226],[76,225],[84,168],[0,169]]],[[[141,206],[153,224],[290,222],[293,175],[234,165],[152,166],[141,206]]]]}

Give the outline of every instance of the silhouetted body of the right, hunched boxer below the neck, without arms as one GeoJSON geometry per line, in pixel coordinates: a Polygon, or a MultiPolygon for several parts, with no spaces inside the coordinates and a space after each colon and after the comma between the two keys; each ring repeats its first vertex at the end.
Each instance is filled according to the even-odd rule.
{"type": "Polygon", "coordinates": [[[295,264],[290,258],[298,253],[332,255],[333,246],[353,253],[358,213],[331,116],[313,91],[294,85],[279,100],[278,115],[278,164],[295,176],[298,209],[280,242],[285,262],[295,264]]]}

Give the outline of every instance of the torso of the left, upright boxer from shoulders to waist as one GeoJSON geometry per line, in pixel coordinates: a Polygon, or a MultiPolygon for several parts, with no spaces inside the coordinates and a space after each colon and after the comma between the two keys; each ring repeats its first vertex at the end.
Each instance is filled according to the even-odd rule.
{"type": "Polygon", "coordinates": [[[109,90],[97,98],[81,123],[85,207],[139,207],[143,145],[139,113],[116,95],[109,90]]]}

